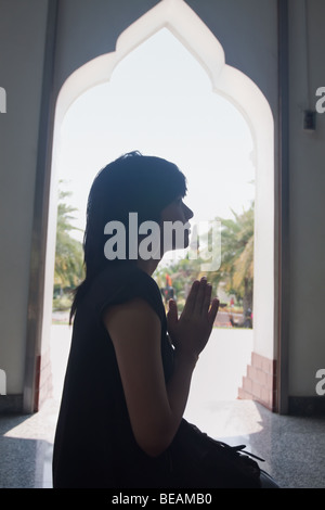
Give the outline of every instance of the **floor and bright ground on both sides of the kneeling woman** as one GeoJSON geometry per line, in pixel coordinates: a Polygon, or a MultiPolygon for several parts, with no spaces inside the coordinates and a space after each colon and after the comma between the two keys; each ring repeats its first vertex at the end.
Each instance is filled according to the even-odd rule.
{"type": "MultiPolygon", "coordinates": [[[[250,357],[251,337],[249,332],[239,336],[238,331],[236,335],[216,331],[193,377],[185,418],[212,437],[231,445],[245,444],[247,450],[265,459],[261,468],[281,487],[324,488],[325,419],[278,416],[251,400],[236,399],[238,379],[250,357]],[[227,365],[234,352],[236,364],[227,365]]],[[[53,398],[32,416],[0,416],[0,488],[52,487],[53,438],[68,329],[53,328],[52,340],[53,398]]]]}

